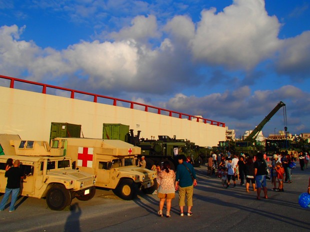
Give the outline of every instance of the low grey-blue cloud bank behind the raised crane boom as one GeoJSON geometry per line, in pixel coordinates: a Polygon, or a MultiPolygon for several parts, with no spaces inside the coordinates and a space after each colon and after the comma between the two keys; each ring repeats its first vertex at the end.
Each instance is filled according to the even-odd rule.
{"type": "MultiPolygon", "coordinates": [[[[291,131],[299,131],[300,128],[310,129],[304,127],[304,122],[301,120],[310,114],[310,94],[291,85],[275,90],[253,92],[248,86],[244,86],[233,91],[212,93],[203,97],[178,93],[163,105],[177,112],[198,114],[203,118],[224,122],[229,128],[243,133],[241,129],[254,128],[279,101],[286,104],[287,122],[291,131]]],[[[273,123],[279,124],[278,129],[284,127],[281,111],[282,109],[273,116],[276,118],[273,123]]]]}

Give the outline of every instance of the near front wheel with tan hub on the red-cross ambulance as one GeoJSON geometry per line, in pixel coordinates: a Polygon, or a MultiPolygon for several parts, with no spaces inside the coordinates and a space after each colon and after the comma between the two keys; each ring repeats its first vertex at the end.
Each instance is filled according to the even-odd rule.
{"type": "Polygon", "coordinates": [[[131,179],[120,180],[120,183],[113,189],[113,193],[126,201],[132,200],[138,194],[138,186],[131,179]]]}

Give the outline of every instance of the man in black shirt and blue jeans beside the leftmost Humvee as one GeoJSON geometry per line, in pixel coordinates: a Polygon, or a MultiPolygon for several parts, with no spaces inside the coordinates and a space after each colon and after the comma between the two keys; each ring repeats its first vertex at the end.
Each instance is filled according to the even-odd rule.
{"type": "Polygon", "coordinates": [[[0,211],[4,210],[4,206],[6,205],[10,194],[12,194],[12,197],[8,212],[13,212],[15,210],[14,205],[19,193],[20,179],[23,179],[23,176],[24,173],[19,169],[19,160],[15,160],[13,167],[5,172],[5,177],[7,177],[7,184],[4,197],[0,204],[0,211]]]}

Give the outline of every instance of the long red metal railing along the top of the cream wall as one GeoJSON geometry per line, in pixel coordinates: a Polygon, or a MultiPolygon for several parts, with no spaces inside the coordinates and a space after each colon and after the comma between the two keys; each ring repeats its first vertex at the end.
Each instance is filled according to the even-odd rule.
{"type": "Polygon", "coordinates": [[[157,114],[161,114],[162,112],[167,112],[170,117],[173,116],[172,114],[175,114],[175,115],[178,115],[178,118],[182,118],[183,116],[185,116],[185,117],[188,117],[188,120],[192,120],[192,118],[195,118],[196,122],[202,121],[203,123],[209,123],[211,125],[225,127],[225,123],[222,123],[222,122],[217,122],[217,121],[206,119],[206,118],[195,117],[193,115],[184,114],[184,113],[180,113],[180,112],[176,112],[176,111],[172,111],[172,110],[167,110],[167,109],[162,109],[162,108],[158,108],[158,107],[151,106],[151,105],[145,105],[145,104],[138,103],[138,102],[127,101],[127,100],[122,100],[122,99],[118,99],[118,98],[114,98],[114,97],[108,97],[108,96],[103,96],[103,95],[99,95],[99,94],[93,94],[93,93],[87,93],[87,92],[73,90],[73,89],[62,88],[62,87],[58,87],[58,86],[54,86],[54,85],[42,84],[42,83],[18,79],[18,78],[14,78],[14,77],[8,77],[8,76],[0,75],[0,78],[10,80],[10,84],[9,84],[10,88],[14,88],[14,82],[17,81],[17,82],[36,85],[36,86],[41,86],[43,94],[46,94],[46,88],[59,89],[59,90],[64,90],[64,91],[70,92],[70,98],[72,98],[72,99],[74,99],[74,93],[85,94],[88,96],[92,96],[93,102],[97,102],[98,97],[104,98],[104,99],[110,99],[110,100],[113,100],[113,106],[117,106],[117,102],[125,102],[125,103],[130,104],[130,109],[134,109],[134,106],[137,105],[137,106],[144,107],[145,112],[149,112],[148,110],[150,108],[150,109],[157,110],[157,114]]]}

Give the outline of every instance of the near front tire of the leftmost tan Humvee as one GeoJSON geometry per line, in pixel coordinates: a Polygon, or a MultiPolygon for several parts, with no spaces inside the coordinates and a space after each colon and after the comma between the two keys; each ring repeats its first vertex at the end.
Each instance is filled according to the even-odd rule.
{"type": "Polygon", "coordinates": [[[47,192],[46,203],[49,209],[61,211],[71,203],[71,193],[63,185],[53,185],[47,192]]]}

